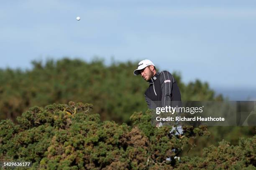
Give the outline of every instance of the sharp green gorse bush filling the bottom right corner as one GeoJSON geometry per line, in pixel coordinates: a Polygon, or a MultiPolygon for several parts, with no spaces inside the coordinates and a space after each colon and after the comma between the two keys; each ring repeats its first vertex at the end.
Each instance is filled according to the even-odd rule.
{"type": "Polygon", "coordinates": [[[205,148],[203,158],[182,157],[177,169],[256,169],[256,135],[252,138],[241,138],[237,146],[223,140],[218,147],[211,145],[205,148]]]}

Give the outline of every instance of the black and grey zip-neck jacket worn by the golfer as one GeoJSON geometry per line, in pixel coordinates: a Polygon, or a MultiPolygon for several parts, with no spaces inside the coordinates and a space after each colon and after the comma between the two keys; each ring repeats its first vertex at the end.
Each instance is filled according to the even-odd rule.
{"type": "Polygon", "coordinates": [[[145,92],[148,108],[165,107],[172,105],[172,101],[181,101],[179,87],[170,72],[158,72],[148,83],[150,85],[145,92]]]}

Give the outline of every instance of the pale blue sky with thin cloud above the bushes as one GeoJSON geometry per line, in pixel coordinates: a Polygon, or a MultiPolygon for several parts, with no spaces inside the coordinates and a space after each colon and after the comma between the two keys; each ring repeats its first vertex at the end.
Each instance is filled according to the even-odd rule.
{"type": "Polygon", "coordinates": [[[254,0],[1,1],[0,21],[0,68],[147,58],[184,82],[256,89],[254,0]]]}

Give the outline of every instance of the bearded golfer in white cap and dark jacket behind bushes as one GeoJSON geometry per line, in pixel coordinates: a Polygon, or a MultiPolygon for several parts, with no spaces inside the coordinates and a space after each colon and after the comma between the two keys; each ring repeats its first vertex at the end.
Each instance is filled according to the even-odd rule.
{"type": "Polygon", "coordinates": [[[176,80],[168,71],[156,72],[156,67],[150,60],[142,60],[134,75],[141,75],[149,83],[145,92],[148,108],[166,107],[177,105],[181,101],[181,95],[176,80]],[[172,102],[175,101],[175,102],[172,102]]]}

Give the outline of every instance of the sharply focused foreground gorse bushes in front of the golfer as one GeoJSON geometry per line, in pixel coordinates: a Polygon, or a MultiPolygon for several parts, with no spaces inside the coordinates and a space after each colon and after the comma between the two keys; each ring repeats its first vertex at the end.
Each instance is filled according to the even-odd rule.
{"type": "Polygon", "coordinates": [[[0,158],[32,161],[31,169],[126,170],[126,169],[215,169],[255,166],[256,138],[241,140],[238,146],[223,141],[205,149],[205,158],[175,155],[189,146],[189,140],[208,136],[202,126],[184,127],[174,135],[172,127],[151,125],[151,112],[134,112],[132,125],[101,121],[90,104],[69,102],[31,107],[17,118],[0,122],[0,158]],[[175,149],[175,150],[174,150],[175,149]],[[171,158],[171,161],[166,160],[171,158]]]}

